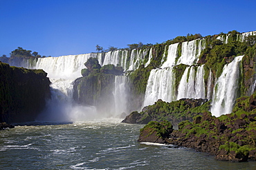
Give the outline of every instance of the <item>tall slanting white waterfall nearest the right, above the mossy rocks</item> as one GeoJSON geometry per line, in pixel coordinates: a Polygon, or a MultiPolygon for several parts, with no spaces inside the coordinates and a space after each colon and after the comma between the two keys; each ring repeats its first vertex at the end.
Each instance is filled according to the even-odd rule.
{"type": "Polygon", "coordinates": [[[211,112],[214,116],[230,114],[239,88],[239,64],[243,56],[237,56],[234,61],[223,67],[223,72],[214,85],[211,112]]]}

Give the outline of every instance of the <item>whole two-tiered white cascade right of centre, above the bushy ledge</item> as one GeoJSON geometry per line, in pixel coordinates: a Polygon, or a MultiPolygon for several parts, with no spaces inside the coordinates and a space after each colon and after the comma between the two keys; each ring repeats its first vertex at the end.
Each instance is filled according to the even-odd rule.
{"type": "Polygon", "coordinates": [[[150,72],[145,92],[144,107],[154,104],[158,99],[171,102],[177,100],[177,98],[205,98],[203,65],[198,67],[196,73],[194,67],[191,67],[190,76],[188,76],[188,69],[190,67],[187,67],[179,84],[178,96],[174,87],[175,76],[173,72],[175,65],[181,63],[187,65],[194,64],[198,60],[201,50],[205,47],[204,41],[203,39],[197,39],[182,43],[181,56],[177,63],[175,62],[178,57],[179,43],[169,45],[167,59],[161,66],[162,69],[150,72]],[[188,80],[187,77],[189,78],[188,80]]]}

